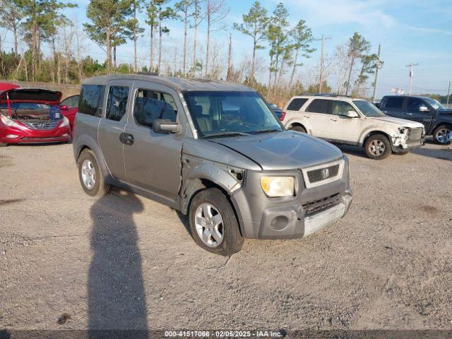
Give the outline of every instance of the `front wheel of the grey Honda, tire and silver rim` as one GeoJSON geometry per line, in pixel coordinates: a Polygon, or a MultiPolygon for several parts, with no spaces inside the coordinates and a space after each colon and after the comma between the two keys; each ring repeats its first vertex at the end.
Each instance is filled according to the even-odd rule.
{"type": "Polygon", "coordinates": [[[190,203],[191,237],[198,246],[221,256],[232,256],[242,249],[244,239],[234,210],[220,189],[205,189],[190,203]]]}

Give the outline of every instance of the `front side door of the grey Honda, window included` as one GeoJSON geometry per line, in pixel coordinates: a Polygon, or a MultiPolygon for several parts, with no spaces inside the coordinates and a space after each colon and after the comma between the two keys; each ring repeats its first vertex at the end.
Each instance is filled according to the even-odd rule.
{"type": "Polygon", "coordinates": [[[124,133],[133,137],[124,145],[127,181],[165,201],[175,201],[181,184],[182,136],[154,133],[155,119],[181,122],[184,112],[177,93],[148,81],[133,86],[133,107],[124,133]]]}

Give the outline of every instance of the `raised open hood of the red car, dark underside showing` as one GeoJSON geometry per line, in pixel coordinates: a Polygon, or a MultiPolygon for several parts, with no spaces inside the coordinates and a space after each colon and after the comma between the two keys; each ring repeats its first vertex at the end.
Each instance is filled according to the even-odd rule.
{"type": "Polygon", "coordinates": [[[0,103],[6,102],[34,102],[37,104],[59,105],[61,92],[44,90],[42,88],[13,88],[0,94],[0,103]]]}

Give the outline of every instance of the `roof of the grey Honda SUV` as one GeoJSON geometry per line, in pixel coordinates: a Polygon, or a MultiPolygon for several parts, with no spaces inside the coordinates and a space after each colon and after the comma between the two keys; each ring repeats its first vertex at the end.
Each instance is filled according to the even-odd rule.
{"type": "Polygon", "coordinates": [[[230,83],[227,81],[218,81],[210,79],[196,78],[172,78],[167,76],[153,76],[147,74],[114,74],[107,76],[97,76],[83,81],[83,85],[103,85],[112,80],[142,80],[152,81],[167,85],[177,91],[186,90],[236,90],[236,91],[254,91],[246,85],[230,83]]]}

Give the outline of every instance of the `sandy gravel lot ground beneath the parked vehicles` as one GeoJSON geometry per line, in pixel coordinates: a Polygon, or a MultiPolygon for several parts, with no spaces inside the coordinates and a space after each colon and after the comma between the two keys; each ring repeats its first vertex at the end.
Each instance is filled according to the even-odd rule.
{"type": "Polygon", "coordinates": [[[86,196],[71,145],[1,148],[0,329],[451,329],[452,146],[342,149],[345,219],[227,261],[159,203],[86,196]]]}

